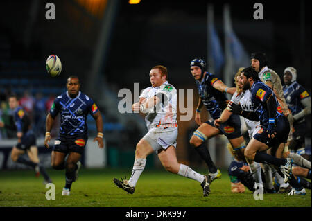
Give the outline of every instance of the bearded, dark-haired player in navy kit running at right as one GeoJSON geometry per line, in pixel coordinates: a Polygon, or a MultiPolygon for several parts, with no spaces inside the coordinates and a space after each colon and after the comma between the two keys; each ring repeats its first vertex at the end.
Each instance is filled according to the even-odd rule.
{"type": "MultiPolygon", "coordinates": [[[[264,85],[260,81],[257,72],[251,67],[241,72],[239,80],[243,85],[243,89],[249,89],[252,97],[252,105],[254,112],[241,112],[241,116],[250,119],[259,119],[261,129],[255,134],[245,149],[245,157],[248,160],[259,163],[271,163],[281,170],[284,174],[284,182],[290,182],[293,187],[290,195],[305,195],[305,190],[300,186],[291,173],[293,160],[280,159],[273,157],[274,152],[281,148],[283,150],[287,142],[289,132],[289,123],[287,118],[282,114],[281,107],[272,89],[264,85]],[[266,154],[266,150],[272,147],[273,156],[266,154]]],[[[237,105],[229,104],[230,109],[235,109],[237,105]]]]}

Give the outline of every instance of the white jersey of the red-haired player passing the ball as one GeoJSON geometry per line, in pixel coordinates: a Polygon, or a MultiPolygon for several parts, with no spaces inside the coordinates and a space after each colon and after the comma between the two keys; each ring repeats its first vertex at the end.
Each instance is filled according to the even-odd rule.
{"type": "Polygon", "coordinates": [[[164,102],[151,109],[145,117],[146,127],[177,127],[177,90],[168,81],[159,87],[148,87],[139,98],[152,98],[164,94],[164,102]]]}

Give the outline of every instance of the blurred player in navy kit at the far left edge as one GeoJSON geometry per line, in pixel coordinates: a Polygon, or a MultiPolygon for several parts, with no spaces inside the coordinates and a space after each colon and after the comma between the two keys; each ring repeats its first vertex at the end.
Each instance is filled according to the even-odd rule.
{"type": "Polygon", "coordinates": [[[18,143],[12,148],[11,159],[17,163],[31,166],[35,169],[35,176],[40,173],[44,177],[44,184],[51,183],[49,175],[46,173],[44,166],[38,158],[38,148],[36,146],[36,138],[33,130],[31,130],[31,120],[27,116],[24,109],[19,106],[17,96],[8,96],[8,104],[13,111],[13,121],[15,125],[6,125],[0,121],[0,127],[6,127],[11,130],[17,130],[18,143]],[[25,159],[23,154],[27,153],[29,159],[25,159]]]}

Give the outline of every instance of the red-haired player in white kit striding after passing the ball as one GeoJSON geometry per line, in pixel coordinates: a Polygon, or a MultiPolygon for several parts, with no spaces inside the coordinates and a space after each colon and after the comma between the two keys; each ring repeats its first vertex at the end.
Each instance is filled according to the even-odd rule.
{"type": "Polygon", "coordinates": [[[168,83],[167,68],[157,65],[150,70],[151,87],[144,89],[132,110],[146,114],[148,133],[137,143],[135,163],[129,180],[114,178],[114,184],[128,193],[135,192],[137,181],[146,165],[146,157],[157,153],[168,172],[200,182],[204,197],[210,192],[211,177],[177,162],[177,90],[168,83]]]}

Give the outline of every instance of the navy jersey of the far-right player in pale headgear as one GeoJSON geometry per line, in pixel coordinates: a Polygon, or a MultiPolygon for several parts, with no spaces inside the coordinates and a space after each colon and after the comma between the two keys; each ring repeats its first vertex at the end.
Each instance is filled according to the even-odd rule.
{"type": "Polygon", "coordinates": [[[304,89],[304,87],[295,81],[289,86],[284,85],[283,91],[288,108],[291,109],[291,113],[295,115],[301,112],[302,109],[304,109],[301,100],[309,98],[309,93],[306,91],[306,89],[304,89]]]}

